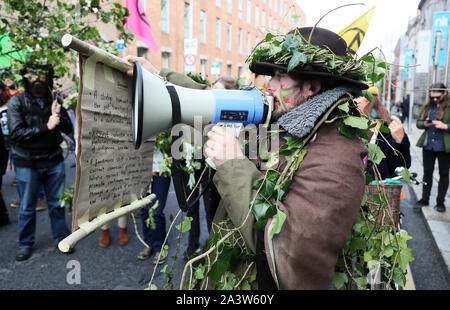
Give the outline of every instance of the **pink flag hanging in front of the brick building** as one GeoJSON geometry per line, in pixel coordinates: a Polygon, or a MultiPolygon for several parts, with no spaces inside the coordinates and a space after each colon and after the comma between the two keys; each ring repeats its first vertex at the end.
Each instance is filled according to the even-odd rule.
{"type": "Polygon", "coordinates": [[[127,0],[127,9],[130,16],[127,18],[125,28],[137,34],[141,40],[154,52],[158,52],[155,38],[153,37],[152,27],[148,21],[145,10],[140,0],[127,0]]]}

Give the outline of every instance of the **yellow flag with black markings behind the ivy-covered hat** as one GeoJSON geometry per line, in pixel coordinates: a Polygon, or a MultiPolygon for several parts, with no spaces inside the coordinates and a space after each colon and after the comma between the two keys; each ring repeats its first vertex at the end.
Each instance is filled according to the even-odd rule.
{"type": "Polygon", "coordinates": [[[355,55],[361,46],[374,11],[375,6],[339,32],[339,35],[347,42],[350,54],[355,55]]]}

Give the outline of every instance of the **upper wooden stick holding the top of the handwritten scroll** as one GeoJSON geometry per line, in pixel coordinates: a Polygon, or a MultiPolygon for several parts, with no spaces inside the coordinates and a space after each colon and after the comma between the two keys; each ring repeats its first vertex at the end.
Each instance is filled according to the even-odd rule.
{"type": "Polygon", "coordinates": [[[104,51],[92,44],[83,42],[80,39],[72,36],[71,34],[66,33],[61,39],[61,44],[64,47],[68,47],[77,51],[81,55],[87,57],[96,57],[99,62],[102,62],[105,65],[119,71],[127,72],[128,70],[133,69],[133,65],[123,60],[122,58],[108,53],[107,51],[104,51]]]}

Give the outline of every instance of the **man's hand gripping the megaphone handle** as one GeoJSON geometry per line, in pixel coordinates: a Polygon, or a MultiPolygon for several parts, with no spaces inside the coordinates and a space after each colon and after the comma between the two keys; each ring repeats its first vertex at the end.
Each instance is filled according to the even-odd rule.
{"type": "Polygon", "coordinates": [[[214,126],[208,132],[206,146],[205,153],[216,167],[232,159],[245,158],[236,137],[219,126],[214,126]]]}

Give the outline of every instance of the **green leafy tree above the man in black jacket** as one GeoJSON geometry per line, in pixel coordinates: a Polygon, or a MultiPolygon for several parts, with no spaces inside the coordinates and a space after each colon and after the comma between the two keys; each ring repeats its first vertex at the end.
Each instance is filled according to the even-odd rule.
{"type": "Polygon", "coordinates": [[[114,23],[118,37],[127,42],[134,36],[124,27],[127,16],[128,9],[114,0],[3,0],[0,4],[0,34],[3,35],[0,36],[9,36],[10,42],[8,49],[0,50],[0,55],[9,58],[10,75],[17,76],[28,63],[51,64],[55,77],[69,77],[78,85],[71,70],[77,53],[62,47],[62,36],[70,33],[117,54],[114,43],[102,42],[95,25],[96,22],[114,23]]]}

